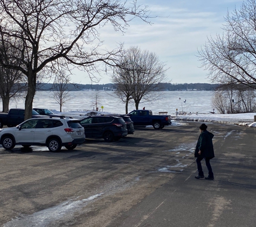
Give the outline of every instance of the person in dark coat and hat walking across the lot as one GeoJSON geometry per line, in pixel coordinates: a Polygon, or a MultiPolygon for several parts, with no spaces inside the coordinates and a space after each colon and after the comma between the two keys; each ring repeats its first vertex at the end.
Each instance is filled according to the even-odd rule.
{"type": "Polygon", "coordinates": [[[204,172],[201,165],[201,161],[205,159],[205,164],[208,169],[208,176],[205,177],[206,180],[213,180],[213,172],[212,167],[210,164],[210,159],[214,158],[214,151],[213,151],[213,144],[212,144],[212,138],[213,134],[211,132],[208,132],[207,125],[202,124],[199,126],[200,129],[200,136],[197,141],[196,150],[195,150],[195,158],[197,162],[197,170],[198,175],[195,176],[196,179],[204,178],[204,172]]]}

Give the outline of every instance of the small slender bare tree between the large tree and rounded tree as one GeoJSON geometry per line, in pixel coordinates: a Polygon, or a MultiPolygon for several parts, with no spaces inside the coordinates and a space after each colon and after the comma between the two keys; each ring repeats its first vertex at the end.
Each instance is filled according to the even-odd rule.
{"type": "Polygon", "coordinates": [[[53,98],[59,104],[60,112],[62,112],[64,103],[72,99],[68,91],[68,84],[70,84],[70,76],[65,73],[56,75],[53,83],[53,98]]]}

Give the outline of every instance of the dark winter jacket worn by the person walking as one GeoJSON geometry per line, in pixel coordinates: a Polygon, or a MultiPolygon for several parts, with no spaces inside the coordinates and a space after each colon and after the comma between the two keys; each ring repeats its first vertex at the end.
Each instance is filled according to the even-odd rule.
{"type": "Polygon", "coordinates": [[[214,135],[207,130],[200,133],[200,136],[197,141],[196,150],[195,150],[195,158],[214,158],[213,144],[212,138],[214,135]],[[198,154],[198,151],[201,151],[201,154],[198,154]]]}

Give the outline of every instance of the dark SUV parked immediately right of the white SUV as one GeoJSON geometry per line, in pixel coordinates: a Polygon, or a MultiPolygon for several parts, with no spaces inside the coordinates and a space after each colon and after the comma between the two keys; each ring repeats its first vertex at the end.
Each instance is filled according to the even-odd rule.
{"type": "Polygon", "coordinates": [[[127,127],[123,118],[116,116],[88,116],[80,120],[85,128],[86,137],[100,137],[111,142],[127,136],[127,127]]]}

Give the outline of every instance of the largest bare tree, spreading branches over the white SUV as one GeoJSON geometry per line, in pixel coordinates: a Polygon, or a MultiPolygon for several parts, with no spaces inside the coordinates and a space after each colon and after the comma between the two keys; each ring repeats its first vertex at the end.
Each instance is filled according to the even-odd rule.
{"type": "MultiPolygon", "coordinates": [[[[79,67],[90,72],[96,62],[115,65],[122,46],[100,49],[98,30],[110,23],[114,31],[124,32],[133,18],[148,23],[147,6],[121,0],[0,0],[0,39],[16,39],[20,65],[4,59],[0,49],[0,66],[22,72],[27,77],[25,119],[32,114],[38,73],[50,75],[59,67],[79,67]]],[[[89,74],[92,76],[92,74],[89,74]]],[[[91,77],[93,80],[93,77],[91,77]]]]}

